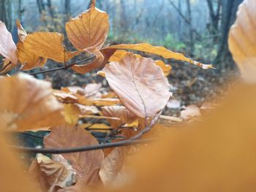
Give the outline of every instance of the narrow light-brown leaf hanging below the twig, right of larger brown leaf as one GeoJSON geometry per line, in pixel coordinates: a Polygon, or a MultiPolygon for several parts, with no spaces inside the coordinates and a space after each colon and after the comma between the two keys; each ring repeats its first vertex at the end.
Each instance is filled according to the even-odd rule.
{"type": "Polygon", "coordinates": [[[114,148],[104,159],[99,176],[104,185],[110,185],[116,179],[118,172],[124,165],[126,149],[124,147],[114,148]]]}

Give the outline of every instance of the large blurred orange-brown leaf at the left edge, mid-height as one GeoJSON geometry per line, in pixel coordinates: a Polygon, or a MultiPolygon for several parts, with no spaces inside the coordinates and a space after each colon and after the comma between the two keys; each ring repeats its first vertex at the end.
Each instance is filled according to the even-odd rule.
{"type": "Polygon", "coordinates": [[[33,130],[64,123],[63,107],[50,82],[27,74],[0,79],[0,119],[7,130],[33,130]]]}

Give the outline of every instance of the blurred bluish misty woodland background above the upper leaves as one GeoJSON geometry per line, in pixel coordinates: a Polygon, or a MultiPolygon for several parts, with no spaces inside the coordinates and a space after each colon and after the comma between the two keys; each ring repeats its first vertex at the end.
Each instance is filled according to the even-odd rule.
{"type": "MultiPolygon", "coordinates": [[[[207,61],[220,71],[233,68],[227,33],[242,0],[98,0],[110,15],[109,44],[150,42],[207,61]]],[[[15,20],[27,31],[59,31],[89,7],[89,0],[1,0],[0,20],[15,40],[15,20]]],[[[69,45],[67,44],[67,47],[69,45]]]]}

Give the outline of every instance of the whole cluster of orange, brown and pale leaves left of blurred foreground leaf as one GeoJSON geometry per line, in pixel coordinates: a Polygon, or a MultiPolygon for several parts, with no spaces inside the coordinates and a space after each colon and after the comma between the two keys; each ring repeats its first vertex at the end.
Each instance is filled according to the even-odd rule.
{"type": "MultiPolygon", "coordinates": [[[[66,64],[75,55],[89,53],[96,58],[90,64],[74,64],[75,72],[98,72],[108,81],[113,92],[100,84],[53,90],[50,82],[36,80],[18,73],[0,78],[1,131],[50,131],[44,139],[45,148],[67,149],[99,145],[90,130],[107,133],[104,142],[131,139],[157,119],[169,101],[171,93],[167,75],[171,67],[127,52],[138,50],[200,64],[165,47],[147,43],[102,46],[108,36],[108,14],[91,4],[90,9],[66,23],[67,37],[76,48],[70,52],[63,45],[64,35],[56,32],[27,34],[17,22],[18,45],[0,21],[0,54],[4,56],[1,73],[14,67],[30,70],[42,67],[48,59],[66,64]],[[89,123],[92,119],[104,123],[89,123]],[[149,122],[152,120],[153,122],[149,122]],[[115,135],[118,139],[113,139],[115,135]]],[[[92,150],[52,155],[37,154],[29,169],[31,180],[41,191],[90,191],[99,185],[114,183],[124,166],[129,147],[92,150]]]]}

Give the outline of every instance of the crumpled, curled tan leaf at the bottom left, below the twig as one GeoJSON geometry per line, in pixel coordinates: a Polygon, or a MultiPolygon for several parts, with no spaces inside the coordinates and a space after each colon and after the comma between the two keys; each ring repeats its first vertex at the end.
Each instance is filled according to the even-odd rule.
{"type": "Polygon", "coordinates": [[[29,174],[42,191],[66,188],[75,183],[75,170],[61,155],[48,156],[37,154],[29,168],[29,174]]]}

